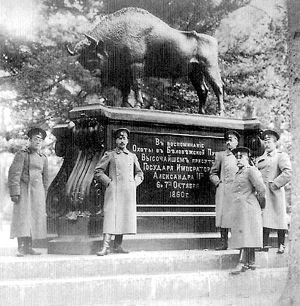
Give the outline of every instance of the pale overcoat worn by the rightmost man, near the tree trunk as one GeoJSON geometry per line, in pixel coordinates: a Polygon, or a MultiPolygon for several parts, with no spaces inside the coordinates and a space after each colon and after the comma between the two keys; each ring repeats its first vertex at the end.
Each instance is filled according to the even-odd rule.
{"type": "Polygon", "coordinates": [[[284,185],[291,179],[289,157],[286,153],[275,149],[270,153],[264,152],[258,157],[256,166],[266,186],[266,202],[262,215],[262,225],[263,227],[274,229],[287,229],[284,185]],[[273,181],[278,189],[271,190],[269,181],[273,181]]]}

